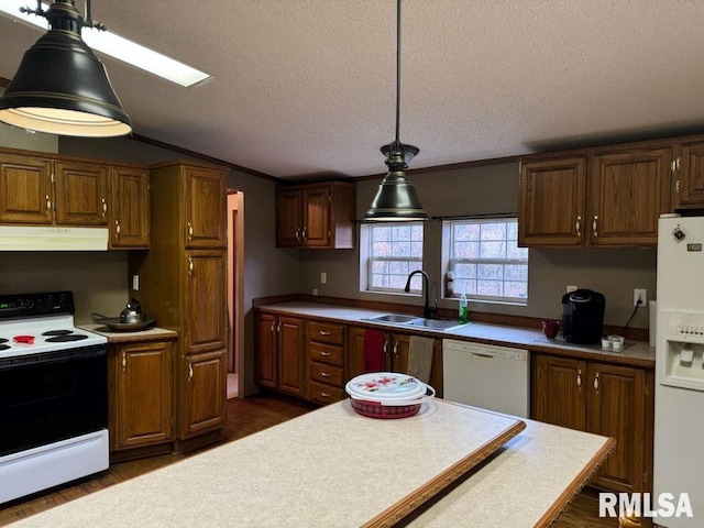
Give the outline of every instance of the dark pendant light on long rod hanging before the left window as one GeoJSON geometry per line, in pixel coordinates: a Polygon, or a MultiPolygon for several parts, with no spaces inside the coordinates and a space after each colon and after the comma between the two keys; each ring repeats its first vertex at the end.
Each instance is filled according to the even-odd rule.
{"type": "Polygon", "coordinates": [[[405,145],[399,140],[400,113],[400,2],[396,9],[396,139],[393,143],[382,146],[386,156],[388,174],[378,186],[376,196],[364,220],[367,222],[403,222],[427,220],[428,215],[422,209],[414,184],[406,177],[404,170],[420,150],[417,146],[405,145]]]}

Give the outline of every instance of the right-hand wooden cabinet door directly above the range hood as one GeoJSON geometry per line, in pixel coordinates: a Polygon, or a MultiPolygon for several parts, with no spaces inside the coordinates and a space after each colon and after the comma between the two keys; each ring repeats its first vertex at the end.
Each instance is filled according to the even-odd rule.
{"type": "Polygon", "coordinates": [[[56,162],[56,223],[108,224],[108,168],[88,163],[56,162]]]}

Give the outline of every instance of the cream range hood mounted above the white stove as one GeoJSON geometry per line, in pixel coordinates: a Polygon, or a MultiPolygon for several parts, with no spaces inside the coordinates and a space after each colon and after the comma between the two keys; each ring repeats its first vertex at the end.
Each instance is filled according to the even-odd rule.
{"type": "Polygon", "coordinates": [[[107,251],[108,228],[0,226],[0,251],[107,251]]]}

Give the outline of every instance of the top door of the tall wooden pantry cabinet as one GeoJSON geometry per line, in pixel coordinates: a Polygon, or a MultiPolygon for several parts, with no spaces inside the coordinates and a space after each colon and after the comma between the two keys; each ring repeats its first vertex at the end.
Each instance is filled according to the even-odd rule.
{"type": "Polygon", "coordinates": [[[227,246],[227,189],[221,170],[184,166],[186,248],[227,246]]]}

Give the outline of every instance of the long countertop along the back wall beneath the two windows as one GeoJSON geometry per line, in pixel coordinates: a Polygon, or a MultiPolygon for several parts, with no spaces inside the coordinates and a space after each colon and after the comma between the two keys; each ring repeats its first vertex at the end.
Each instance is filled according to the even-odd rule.
{"type": "MultiPolygon", "coordinates": [[[[528,328],[508,327],[503,324],[486,324],[482,322],[469,322],[459,328],[447,331],[424,329],[396,323],[369,321],[367,318],[386,314],[378,310],[350,308],[338,305],[316,304],[305,301],[278,302],[275,305],[260,306],[260,309],[282,311],[306,317],[338,320],[345,323],[373,324],[375,327],[432,333],[436,338],[458,338],[479,341],[490,341],[506,346],[529,348],[538,351],[564,351],[578,354],[600,354],[613,361],[630,361],[644,365],[654,366],[654,348],[647,342],[628,341],[627,348],[622,352],[602,350],[600,348],[580,346],[561,342],[559,339],[547,339],[540,330],[528,328]]],[[[458,323],[459,324],[459,323],[458,323]]]]}

